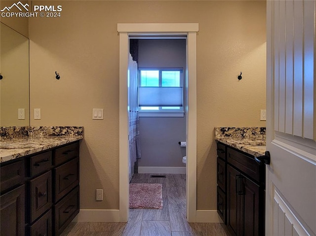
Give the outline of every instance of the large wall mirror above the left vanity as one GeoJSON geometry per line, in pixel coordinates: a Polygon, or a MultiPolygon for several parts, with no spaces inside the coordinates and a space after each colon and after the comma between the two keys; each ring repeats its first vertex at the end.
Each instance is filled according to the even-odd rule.
{"type": "Polygon", "coordinates": [[[2,22],[0,74],[0,126],[29,126],[29,39],[2,22]]]}

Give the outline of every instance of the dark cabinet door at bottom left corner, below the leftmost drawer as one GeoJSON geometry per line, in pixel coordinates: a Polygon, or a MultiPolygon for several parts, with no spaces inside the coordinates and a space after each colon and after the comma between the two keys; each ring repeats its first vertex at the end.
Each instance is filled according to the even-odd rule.
{"type": "Polygon", "coordinates": [[[0,197],[0,236],[24,236],[24,184],[0,197]]]}

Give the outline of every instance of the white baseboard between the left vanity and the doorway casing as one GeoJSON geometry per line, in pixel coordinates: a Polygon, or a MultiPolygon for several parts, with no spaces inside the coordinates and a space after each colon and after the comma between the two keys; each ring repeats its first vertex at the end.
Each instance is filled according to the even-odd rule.
{"type": "Polygon", "coordinates": [[[80,209],[73,222],[119,222],[119,210],[80,209]]]}

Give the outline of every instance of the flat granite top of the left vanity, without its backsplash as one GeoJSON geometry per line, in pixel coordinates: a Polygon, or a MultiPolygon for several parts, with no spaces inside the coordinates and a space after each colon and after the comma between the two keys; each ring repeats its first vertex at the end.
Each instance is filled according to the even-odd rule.
{"type": "Polygon", "coordinates": [[[78,136],[25,137],[1,141],[0,163],[61,146],[82,139],[78,136]]]}

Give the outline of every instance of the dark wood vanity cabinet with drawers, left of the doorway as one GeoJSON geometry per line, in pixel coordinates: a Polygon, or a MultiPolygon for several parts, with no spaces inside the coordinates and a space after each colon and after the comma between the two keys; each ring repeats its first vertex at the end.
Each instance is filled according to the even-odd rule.
{"type": "Polygon", "coordinates": [[[59,236],[79,213],[79,141],[0,168],[0,236],[59,236]]]}

